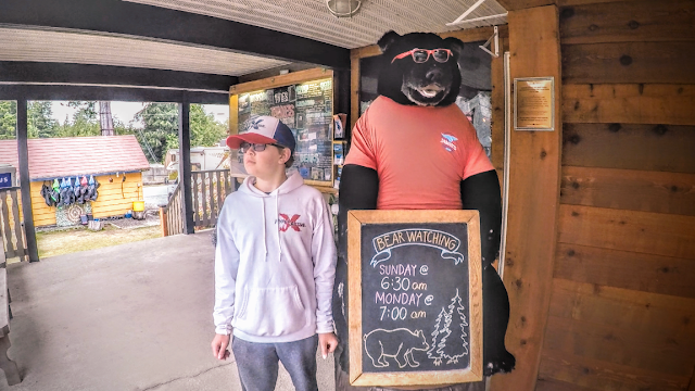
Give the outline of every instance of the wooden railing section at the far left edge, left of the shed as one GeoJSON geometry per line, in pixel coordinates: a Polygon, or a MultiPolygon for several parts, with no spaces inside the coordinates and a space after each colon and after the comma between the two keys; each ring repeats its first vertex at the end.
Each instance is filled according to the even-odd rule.
{"type": "Polygon", "coordinates": [[[0,189],[0,222],[5,258],[20,256],[26,260],[29,251],[26,245],[24,225],[20,218],[18,187],[0,189]]]}

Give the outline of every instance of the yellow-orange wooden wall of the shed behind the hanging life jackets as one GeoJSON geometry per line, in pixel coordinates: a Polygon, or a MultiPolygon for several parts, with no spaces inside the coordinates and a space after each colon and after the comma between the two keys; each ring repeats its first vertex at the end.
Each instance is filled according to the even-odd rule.
{"type": "MultiPolygon", "coordinates": [[[[123,215],[132,210],[132,201],[142,199],[142,174],[128,173],[126,181],[122,181],[123,174],[97,176],[101,184],[99,197],[91,203],[92,215],[97,218],[123,215]],[[109,178],[113,181],[110,182],[109,178]],[[122,189],[123,185],[123,189],[122,189]],[[138,185],[140,187],[138,187],[138,185]]],[[[31,207],[34,210],[34,225],[37,227],[55,224],[55,206],[49,207],[41,197],[42,181],[31,182],[31,207]]]]}

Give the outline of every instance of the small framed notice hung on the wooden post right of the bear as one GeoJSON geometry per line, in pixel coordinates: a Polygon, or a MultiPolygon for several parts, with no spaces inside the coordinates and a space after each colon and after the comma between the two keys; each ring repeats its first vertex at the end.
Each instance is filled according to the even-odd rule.
{"type": "Polygon", "coordinates": [[[555,130],[555,79],[514,79],[514,127],[517,130],[555,130]]]}

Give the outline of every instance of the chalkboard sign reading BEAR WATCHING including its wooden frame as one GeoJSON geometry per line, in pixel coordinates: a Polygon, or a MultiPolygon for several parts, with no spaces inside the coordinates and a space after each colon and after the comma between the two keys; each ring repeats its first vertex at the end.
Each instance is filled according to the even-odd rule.
{"type": "Polygon", "coordinates": [[[350,381],[482,379],[477,211],[351,211],[350,381]]]}

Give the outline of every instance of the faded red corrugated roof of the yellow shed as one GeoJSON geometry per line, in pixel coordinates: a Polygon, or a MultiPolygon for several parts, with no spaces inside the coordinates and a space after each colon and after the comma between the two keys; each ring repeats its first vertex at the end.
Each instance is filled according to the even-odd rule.
{"type": "MultiPolygon", "coordinates": [[[[29,139],[31,180],[135,172],[150,167],[135,136],[29,139]]],[[[0,163],[20,173],[16,140],[0,140],[0,163]]]]}

